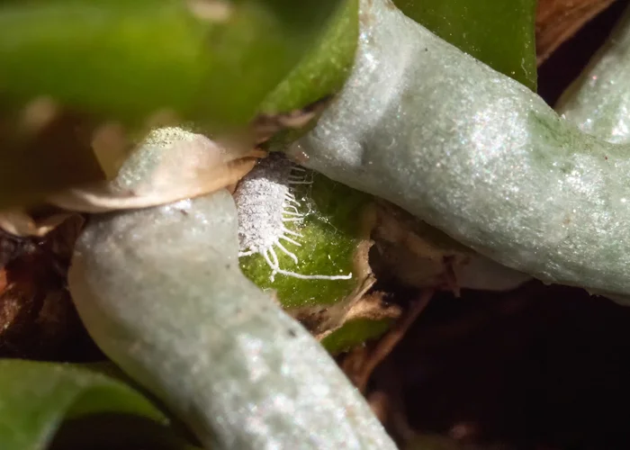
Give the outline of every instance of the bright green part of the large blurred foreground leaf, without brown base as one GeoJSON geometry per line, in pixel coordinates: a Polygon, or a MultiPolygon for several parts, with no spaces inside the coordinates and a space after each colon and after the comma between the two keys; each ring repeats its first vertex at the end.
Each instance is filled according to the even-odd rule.
{"type": "Polygon", "coordinates": [[[339,0],[47,0],[0,8],[0,95],[112,119],[165,108],[242,124],[327,30],[339,0]]]}

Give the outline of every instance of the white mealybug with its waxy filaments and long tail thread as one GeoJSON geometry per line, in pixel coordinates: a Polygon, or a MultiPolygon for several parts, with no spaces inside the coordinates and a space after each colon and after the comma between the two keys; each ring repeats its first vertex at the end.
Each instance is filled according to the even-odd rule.
{"type": "MultiPolygon", "coordinates": [[[[296,184],[312,184],[309,172],[296,166],[281,154],[262,159],[238,184],[234,200],[238,209],[238,257],[259,254],[275,275],[293,276],[303,280],[349,280],[348,275],[304,275],[280,268],[277,247],[295,265],[300,264],[297,255],[288,246],[302,247],[302,234],[295,228],[301,224],[307,212],[293,193],[296,184]],[[291,229],[291,228],[293,229],[291,229]],[[285,247],[287,246],[287,247],[285,247]]],[[[297,250],[294,250],[297,251],[297,250]]]]}

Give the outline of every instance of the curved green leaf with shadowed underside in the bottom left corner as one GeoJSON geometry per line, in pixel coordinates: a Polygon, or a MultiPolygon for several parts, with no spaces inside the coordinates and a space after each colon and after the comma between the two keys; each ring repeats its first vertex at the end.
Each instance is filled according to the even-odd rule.
{"type": "Polygon", "coordinates": [[[97,443],[102,445],[98,436],[109,433],[112,441],[113,432],[121,432],[124,440],[120,442],[125,445],[146,444],[157,433],[164,444],[151,448],[191,448],[175,438],[167,423],[166,417],[139,392],[103,374],[73,365],[0,360],[3,450],[43,450],[53,441],[52,448],[94,448],[97,443]],[[129,428],[131,423],[137,427],[129,428]],[[55,437],[58,429],[63,431],[60,441],[55,437]],[[78,442],[85,446],[74,446],[78,442]]]}

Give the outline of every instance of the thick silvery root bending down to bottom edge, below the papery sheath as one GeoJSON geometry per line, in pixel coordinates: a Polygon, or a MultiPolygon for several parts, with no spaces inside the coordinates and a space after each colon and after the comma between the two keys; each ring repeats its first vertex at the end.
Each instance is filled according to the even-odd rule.
{"type": "Polygon", "coordinates": [[[204,448],[394,450],[320,343],[242,274],[236,216],[220,191],[90,220],[68,275],[90,335],[204,448]]]}

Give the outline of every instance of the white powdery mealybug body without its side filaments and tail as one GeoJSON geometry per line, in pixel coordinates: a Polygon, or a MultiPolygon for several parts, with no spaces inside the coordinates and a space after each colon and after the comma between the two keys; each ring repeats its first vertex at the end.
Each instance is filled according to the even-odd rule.
{"type": "Polygon", "coordinates": [[[234,193],[238,210],[238,243],[241,252],[273,247],[283,235],[283,211],[290,193],[292,163],[271,154],[240,181],[234,193]]]}

